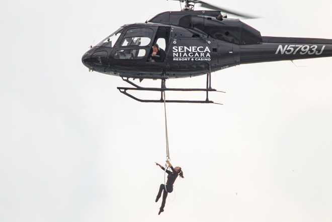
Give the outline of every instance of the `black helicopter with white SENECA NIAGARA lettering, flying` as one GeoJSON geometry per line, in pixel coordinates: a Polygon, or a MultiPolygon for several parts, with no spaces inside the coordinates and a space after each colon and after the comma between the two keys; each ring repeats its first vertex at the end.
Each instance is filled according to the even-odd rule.
{"type": "Polygon", "coordinates": [[[119,91],[140,102],[213,103],[208,99],[211,72],[247,63],[295,60],[332,56],[332,40],[261,36],[261,33],[238,19],[221,12],[254,18],[214,7],[200,0],[179,0],[185,8],[163,12],[145,23],[124,25],[82,56],[89,70],[119,76],[135,88],[119,91]],[[195,4],[217,11],[194,11],[195,4]],[[152,46],[162,42],[165,58],[151,62],[152,46]],[[207,74],[205,89],[166,88],[171,78],[207,74]],[[144,88],[129,79],[160,79],[160,88],[144,88]],[[160,100],[142,100],[128,90],[160,91],[160,100]],[[164,91],[205,91],[206,100],[165,100],[164,91]]]}

